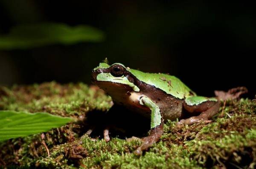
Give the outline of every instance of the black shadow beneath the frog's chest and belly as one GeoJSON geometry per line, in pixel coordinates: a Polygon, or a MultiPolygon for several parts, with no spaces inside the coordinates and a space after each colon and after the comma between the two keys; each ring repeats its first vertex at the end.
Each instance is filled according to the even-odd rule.
{"type": "Polygon", "coordinates": [[[145,137],[150,129],[150,118],[114,105],[108,112],[88,112],[83,131],[90,137],[104,137],[105,129],[110,129],[111,137],[126,139],[129,137],[145,137]]]}

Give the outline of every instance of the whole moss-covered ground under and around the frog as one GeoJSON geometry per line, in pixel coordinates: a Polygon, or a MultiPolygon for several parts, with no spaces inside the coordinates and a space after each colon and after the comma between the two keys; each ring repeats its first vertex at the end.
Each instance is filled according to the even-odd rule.
{"type": "Polygon", "coordinates": [[[210,123],[176,126],[168,120],[161,140],[142,156],[132,153],[140,140],[125,140],[128,135],[124,129],[112,132],[114,137],[108,143],[102,139],[102,128],[95,129],[94,137],[84,135],[91,124],[104,122],[103,115],[111,106],[110,97],[83,83],[0,87],[0,109],[44,111],[77,119],[76,123],[45,133],[49,157],[40,134],[0,143],[0,165],[59,169],[255,168],[255,100],[228,101],[210,123]],[[95,115],[96,121],[87,123],[89,114],[95,115]]]}

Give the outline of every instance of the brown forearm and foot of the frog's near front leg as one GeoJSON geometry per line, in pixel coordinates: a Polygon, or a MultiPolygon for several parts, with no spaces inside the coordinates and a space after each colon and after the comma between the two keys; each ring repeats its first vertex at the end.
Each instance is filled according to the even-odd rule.
{"type": "Polygon", "coordinates": [[[163,135],[163,124],[161,123],[159,126],[156,126],[154,129],[150,130],[150,135],[144,137],[143,143],[134,151],[135,155],[142,155],[143,150],[148,149],[154,143],[156,143],[160,137],[163,135]]]}

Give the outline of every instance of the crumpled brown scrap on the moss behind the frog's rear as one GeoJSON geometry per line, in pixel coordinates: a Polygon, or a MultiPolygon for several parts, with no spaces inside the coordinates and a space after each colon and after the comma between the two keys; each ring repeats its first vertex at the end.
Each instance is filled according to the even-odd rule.
{"type": "Polygon", "coordinates": [[[235,100],[238,99],[241,95],[246,94],[248,92],[246,87],[237,87],[224,91],[215,90],[214,93],[218,97],[218,100],[235,100]]]}

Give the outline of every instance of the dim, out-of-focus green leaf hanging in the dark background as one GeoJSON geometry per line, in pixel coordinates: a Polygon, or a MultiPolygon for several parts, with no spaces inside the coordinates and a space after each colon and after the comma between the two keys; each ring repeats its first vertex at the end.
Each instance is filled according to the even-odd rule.
{"type": "Polygon", "coordinates": [[[38,46],[78,42],[100,42],[103,32],[91,26],[67,26],[62,23],[19,25],[7,35],[0,35],[0,50],[29,49],[38,46]]]}

